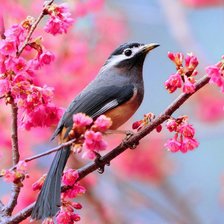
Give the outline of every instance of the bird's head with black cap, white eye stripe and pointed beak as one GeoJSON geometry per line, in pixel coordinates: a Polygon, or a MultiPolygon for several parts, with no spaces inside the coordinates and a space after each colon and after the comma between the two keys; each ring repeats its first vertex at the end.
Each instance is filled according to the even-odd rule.
{"type": "Polygon", "coordinates": [[[125,43],[115,49],[107,59],[106,67],[142,66],[148,52],[158,47],[159,44],[125,43]]]}

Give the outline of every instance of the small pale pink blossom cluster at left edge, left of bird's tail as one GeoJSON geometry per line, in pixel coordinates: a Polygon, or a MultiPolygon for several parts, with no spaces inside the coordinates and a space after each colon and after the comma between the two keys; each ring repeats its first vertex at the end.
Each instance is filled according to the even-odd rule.
{"type": "Polygon", "coordinates": [[[22,181],[26,177],[28,177],[27,163],[24,161],[19,161],[19,163],[16,165],[15,169],[1,170],[0,176],[3,176],[3,178],[6,182],[13,182],[20,186],[23,186],[22,181]]]}

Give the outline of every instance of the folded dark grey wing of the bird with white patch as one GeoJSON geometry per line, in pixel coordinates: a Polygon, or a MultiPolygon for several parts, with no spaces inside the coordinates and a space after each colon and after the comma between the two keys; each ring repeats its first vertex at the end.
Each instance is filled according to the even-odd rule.
{"type": "Polygon", "coordinates": [[[54,139],[63,129],[67,128],[64,137],[67,137],[73,125],[73,115],[79,112],[85,113],[93,119],[106,111],[128,101],[134,94],[134,86],[106,86],[94,89],[77,96],[62,116],[51,138],[54,139]]]}

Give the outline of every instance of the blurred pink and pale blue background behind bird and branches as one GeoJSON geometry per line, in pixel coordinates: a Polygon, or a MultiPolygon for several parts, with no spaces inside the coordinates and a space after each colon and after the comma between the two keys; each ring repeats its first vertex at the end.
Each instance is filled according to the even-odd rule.
{"type": "MultiPolygon", "coordinates": [[[[57,1],[60,2],[60,1],[57,1]]],[[[41,83],[55,88],[54,102],[66,107],[97,74],[110,52],[123,42],[157,42],[144,65],[145,98],[135,116],[122,129],[131,129],[144,114],[159,115],[180,92],[164,88],[175,67],[167,52],[193,52],[199,59],[199,77],[204,68],[224,53],[224,0],[89,0],[67,1],[76,22],[60,37],[44,36],[44,44],[56,54],[56,62],[39,74],[41,83]]],[[[6,26],[27,15],[37,16],[42,1],[0,0],[5,7],[6,26]],[[16,10],[15,10],[16,7],[16,10]],[[12,14],[10,14],[12,12],[12,14]]],[[[36,35],[42,35],[41,28],[36,35]]],[[[168,132],[152,133],[136,150],[127,150],[106,167],[103,175],[89,175],[83,181],[87,193],[82,203],[81,224],[222,224],[224,223],[224,96],[208,86],[188,100],[175,114],[188,115],[200,146],[186,154],[164,148],[168,132]]],[[[7,108],[1,105],[0,168],[10,167],[7,108]]],[[[22,158],[45,151],[52,128],[21,131],[22,158]],[[31,151],[32,149],[32,151],[31,151]]],[[[110,137],[110,148],[121,136],[110,137]]],[[[30,185],[46,172],[49,157],[30,165],[17,209],[34,200],[30,185]],[[30,192],[28,194],[28,191],[30,192]],[[25,193],[26,192],[26,193],[25,193]]],[[[77,159],[77,158],[76,158],[77,159]]],[[[74,160],[73,160],[74,161],[74,160]]],[[[81,161],[81,162],[80,162],[81,161]]],[[[82,163],[70,161],[79,167],[82,163]],[[79,165],[77,165],[79,164],[79,165]]],[[[1,180],[0,180],[1,181],[1,180]]],[[[6,201],[10,185],[0,182],[6,201]]],[[[25,221],[24,223],[29,223],[25,221]]]]}

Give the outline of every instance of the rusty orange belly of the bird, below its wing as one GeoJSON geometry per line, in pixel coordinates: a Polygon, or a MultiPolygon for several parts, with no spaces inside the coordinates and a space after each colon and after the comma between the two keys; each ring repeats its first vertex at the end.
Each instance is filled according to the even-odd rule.
{"type": "Polygon", "coordinates": [[[117,129],[122,124],[124,124],[138,109],[140,106],[141,101],[133,100],[117,106],[105,113],[107,117],[110,117],[112,120],[112,126],[110,129],[117,129]]]}

